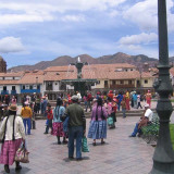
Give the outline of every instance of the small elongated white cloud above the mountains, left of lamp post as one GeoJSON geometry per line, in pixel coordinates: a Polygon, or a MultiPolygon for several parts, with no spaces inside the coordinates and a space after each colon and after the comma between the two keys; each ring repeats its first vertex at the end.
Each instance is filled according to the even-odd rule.
{"type": "Polygon", "coordinates": [[[151,41],[157,41],[157,40],[158,40],[157,34],[141,33],[140,35],[132,35],[132,36],[122,37],[119,40],[119,44],[121,44],[121,45],[139,45],[139,44],[149,44],[151,41]]]}

